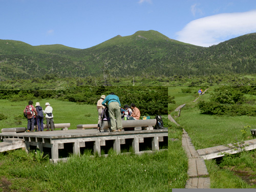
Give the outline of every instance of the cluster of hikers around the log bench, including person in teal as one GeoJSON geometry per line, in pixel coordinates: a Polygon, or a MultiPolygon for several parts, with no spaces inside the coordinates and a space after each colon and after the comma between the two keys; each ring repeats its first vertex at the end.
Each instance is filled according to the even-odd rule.
{"type": "Polygon", "coordinates": [[[121,108],[120,100],[115,93],[110,93],[110,95],[101,95],[97,102],[98,110],[98,130],[100,131],[100,122],[102,120],[102,112],[107,107],[108,103],[108,113],[110,118],[111,129],[110,132],[121,132],[122,131],[122,119],[123,120],[139,120],[140,110],[136,107],[134,103],[131,106],[125,104],[121,108]]]}

